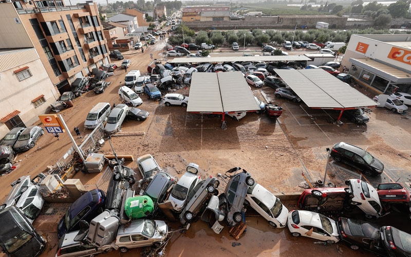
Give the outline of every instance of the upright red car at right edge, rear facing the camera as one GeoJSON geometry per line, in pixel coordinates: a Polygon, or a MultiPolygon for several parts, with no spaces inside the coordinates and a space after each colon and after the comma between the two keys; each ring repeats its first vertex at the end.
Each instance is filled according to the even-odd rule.
{"type": "Polygon", "coordinates": [[[381,183],[377,193],[381,201],[410,203],[411,191],[404,183],[381,183]]]}

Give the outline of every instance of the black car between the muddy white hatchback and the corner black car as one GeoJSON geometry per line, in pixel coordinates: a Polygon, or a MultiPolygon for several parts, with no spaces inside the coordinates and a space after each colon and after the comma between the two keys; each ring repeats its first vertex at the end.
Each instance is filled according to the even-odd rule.
{"type": "Polygon", "coordinates": [[[380,237],[380,226],[358,219],[340,217],[337,222],[341,241],[353,250],[364,248],[380,256],[386,256],[380,237]]]}

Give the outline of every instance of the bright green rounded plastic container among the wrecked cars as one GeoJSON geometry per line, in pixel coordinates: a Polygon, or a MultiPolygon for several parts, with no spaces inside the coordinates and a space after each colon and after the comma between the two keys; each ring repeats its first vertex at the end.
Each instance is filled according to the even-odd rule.
{"type": "Polygon", "coordinates": [[[129,218],[144,218],[154,210],[153,200],[145,195],[128,197],[124,211],[129,218]]]}

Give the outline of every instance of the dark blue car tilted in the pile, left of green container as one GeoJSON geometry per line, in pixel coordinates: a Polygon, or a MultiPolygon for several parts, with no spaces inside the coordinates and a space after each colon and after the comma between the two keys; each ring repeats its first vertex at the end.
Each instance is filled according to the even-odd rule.
{"type": "Polygon", "coordinates": [[[104,191],[101,189],[93,189],[80,196],[60,219],[57,236],[60,238],[67,232],[79,230],[79,222],[82,220],[90,222],[103,211],[105,198],[104,191]]]}

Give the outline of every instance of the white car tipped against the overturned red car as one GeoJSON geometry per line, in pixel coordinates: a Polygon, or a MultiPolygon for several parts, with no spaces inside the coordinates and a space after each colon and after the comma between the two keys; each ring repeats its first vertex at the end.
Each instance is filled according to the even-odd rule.
{"type": "Polygon", "coordinates": [[[349,179],[345,184],[350,187],[350,205],[358,206],[366,218],[379,217],[382,215],[382,205],[378,192],[369,183],[360,179],[349,179]]]}

